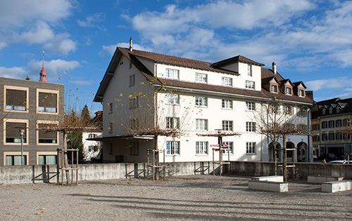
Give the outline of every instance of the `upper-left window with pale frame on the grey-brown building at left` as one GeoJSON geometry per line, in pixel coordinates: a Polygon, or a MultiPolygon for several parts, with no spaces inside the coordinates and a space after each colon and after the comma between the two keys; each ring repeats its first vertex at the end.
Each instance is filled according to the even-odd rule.
{"type": "Polygon", "coordinates": [[[27,111],[28,88],[4,86],[6,99],[5,109],[25,112],[27,111]]]}

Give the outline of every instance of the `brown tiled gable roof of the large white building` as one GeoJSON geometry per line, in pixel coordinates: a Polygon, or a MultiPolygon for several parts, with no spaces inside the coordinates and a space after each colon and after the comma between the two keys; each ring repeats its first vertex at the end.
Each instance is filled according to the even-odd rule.
{"type": "MultiPolygon", "coordinates": [[[[122,55],[125,55],[125,57],[128,60],[130,60],[132,62],[132,64],[135,67],[137,67],[137,69],[139,69],[139,71],[146,77],[146,79],[148,79],[149,81],[156,83],[156,84],[163,84],[166,86],[179,87],[179,88],[197,89],[197,90],[203,90],[203,91],[232,93],[234,95],[253,96],[253,97],[258,97],[258,98],[262,98],[262,99],[277,98],[277,99],[282,99],[282,100],[289,100],[289,101],[294,101],[294,102],[304,102],[304,103],[308,103],[308,104],[313,104],[313,99],[310,99],[307,96],[305,98],[302,98],[302,97],[298,97],[296,95],[293,95],[293,96],[289,96],[287,98],[287,96],[284,94],[270,93],[263,88],[261,91],[253,91],[253,90],[244,89],[244,88],[215,86],[215,85],[211,85],[211,84],[193,83],[193,82],[180,81],[180,80],[176,80],[176,79],[158,79],[139,60],[139,58],[145,58],[145,59],[151,60],[153,62],[166,64],[166,65],[175,65],[175,66],[180,66],[180,67],[189,67],[189,68],[194,68],[194,69],[203,69],[203,70],[207,70],[207,71],[220,72],[220,73],[226,73],[226,74],[236,74],[236,75],[239,75],[239,73],[227,71],[227,70],[221,69],[219,67],[222,65],[225,65],[227,63],[230,63],[230,62],[247,62],[247,63],[255,63],[256,65],[263,66],[263,64],[260,64],[258,62],[254,62],[253,60],[245,58],[241,55],[238,55],[233,58],[229,58],[227,60],[222,60],[220,62],[215,63],[215,65],[213,65],[210,62],[202,62],[199,60],[179,58],[179,57],[170,56],[170,55],[161,55],[158,53],[151,53],[151,52],[146,52],[146,51],[138,51],[138,50],[130,51],[128,48],[119,48],[119,47],[116,48],[116,51],[113,55],[113,58],[110,62],[110,65],[108,66],[108,69],[106,70],[106,74],[100,83],[98,92],[96,93],[96,96],[94,98],[94,102],[101,102],[102,101],[103,93],[105,93],[106,88],[108,86],[108,83],[111,80],[111,77],[113,76],[113,73],[115,72],[115,69],[116,69],[118,62],[119,62],[122,55]]],[[[262,79],[263,78],[268,78],[269,80],[275,79],[275,81],[278,81],[278,82],[284,80],[284,78],[280,74],[278,74],[278,73],[274,74],[274,72],[272,72],[272,70],[270,70],[270,69],[265,69],[262,67],[261,72],[262,72],[262,79]]]]}

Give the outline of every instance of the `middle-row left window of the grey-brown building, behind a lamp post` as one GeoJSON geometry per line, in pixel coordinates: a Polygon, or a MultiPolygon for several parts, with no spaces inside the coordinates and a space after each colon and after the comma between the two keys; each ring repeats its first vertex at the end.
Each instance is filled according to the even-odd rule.
{"type": "Polygon", "coordinates": [[[5,120],[5,143],[6,144],[20,144],[21,135],[20,128],[25,128],[25,134],[23,135],[23,143],[27,143],[27,123],[26,122],[15,122],[13,120],[5,120]]]}

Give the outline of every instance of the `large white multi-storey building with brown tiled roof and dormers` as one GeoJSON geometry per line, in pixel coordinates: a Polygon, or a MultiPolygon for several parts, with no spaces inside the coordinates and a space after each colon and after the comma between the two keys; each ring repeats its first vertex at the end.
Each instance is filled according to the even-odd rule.
{"type": "MultiPolygon", "coordinates": [[[[313,93],[285,80],[275,63],[274,71],[263,66],[241,55],[210,63],[117,48],[94,98],[103,103],[103,161],[146,162],[153,136],[133,134],[134,128],[180,130],[180,137],[158,136],[166,162],[212,161],[210,145],[218,138],[202,135],[219,129],[241,134],[222,139],[231,161],[270,161],[270,140],[256,132],[254,114],[276,98],[285,114],[307,125],[302,110],[313,104],[313,93]]],[[[308,136],[287,141],[306,148],[308,136]]]]}

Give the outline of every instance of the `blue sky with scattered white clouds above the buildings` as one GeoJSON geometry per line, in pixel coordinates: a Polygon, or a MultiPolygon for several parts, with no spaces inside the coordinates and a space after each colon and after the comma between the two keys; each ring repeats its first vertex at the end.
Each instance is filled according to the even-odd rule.
{"type": "Polygon", "coordinates": [[[0,1],[0,76],[65,83],[87,103],[116,46],[217,62],[236,55],[303,81],[315,100],[352,97],[352,1],[0,1]],[[68,74],[65,74],[65,71],[68,74]]]}

